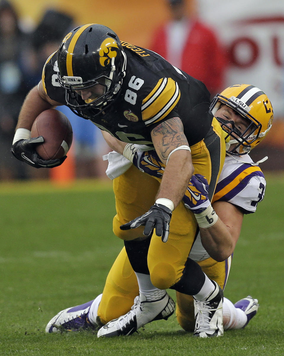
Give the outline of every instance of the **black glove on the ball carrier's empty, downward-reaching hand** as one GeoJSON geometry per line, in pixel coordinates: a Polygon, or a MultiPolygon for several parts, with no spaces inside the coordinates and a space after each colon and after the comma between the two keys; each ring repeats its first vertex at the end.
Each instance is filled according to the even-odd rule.
{"type": "Polygon", "coordinates": [[[171,209],[162,204],[154,204],[147,213],[131,220],[129,223],[121,225],[121,230],[135,229],[140,225],[145,225],[143,234],[149,236],[153,229],[156,229],[156,235],[162,236],[162,241],[167,242],[172,217],[171,209]]]}

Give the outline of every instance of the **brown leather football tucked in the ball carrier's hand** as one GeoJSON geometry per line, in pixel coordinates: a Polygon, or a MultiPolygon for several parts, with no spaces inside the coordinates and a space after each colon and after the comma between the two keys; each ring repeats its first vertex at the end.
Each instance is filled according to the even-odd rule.
{"type": "Polygon", "coordinates": [[[73,131],[68,118],[60,111],[48,109],[38,115],[33,123],[31,137],[43,136],[44,142],[36,146],[36,151],[45,160],[66,156],[73,139],[73,131]]]}

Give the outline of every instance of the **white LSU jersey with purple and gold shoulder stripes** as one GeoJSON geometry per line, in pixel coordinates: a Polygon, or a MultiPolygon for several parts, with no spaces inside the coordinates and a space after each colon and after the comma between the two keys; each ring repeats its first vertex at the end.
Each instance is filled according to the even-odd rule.
{"type": "MultiPolygon", "coordinates": [[[[257,203],[264,197],[265,188],[264,175],[249,155],[241,157],[226,155],[212,203],[227,201],[239,207],[244,214],[254,213],[257,203]]],[[[194,261],[203,261],[210,257],[202,246],[200,233],[189,257],[194,261]]]]}

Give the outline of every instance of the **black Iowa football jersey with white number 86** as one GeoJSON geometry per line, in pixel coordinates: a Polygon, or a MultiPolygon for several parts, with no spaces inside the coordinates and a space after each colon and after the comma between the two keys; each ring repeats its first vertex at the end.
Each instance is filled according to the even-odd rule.
{"type": "MultiPolygon", "coordinates": [[[[152,144],[151,131],[156,125],[178,116],[189,146],[201,141],[213,119],[205,85],[155,52],[123,41],[121,44],[127,57],[126,75],[112,105],[96,116],[92,113],[97,109],[84,111],[84,116],[77,115],[91,120],[120,141],[145,145],[152,144]]],[[[43,68],[43,87],[50,99],[66,105],[65,89],[60,87],[57,73],[57,52],[54,52],[43,68]]]]}

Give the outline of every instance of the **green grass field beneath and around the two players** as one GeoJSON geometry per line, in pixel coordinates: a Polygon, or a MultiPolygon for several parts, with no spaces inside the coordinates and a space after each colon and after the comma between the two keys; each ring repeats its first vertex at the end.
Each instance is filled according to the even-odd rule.
{"type": "Polygon", "coordinates": [[[174,316],[130,337],[45,334],[61,309],[102,292],[120,251],[111,183],[1,184],[0,355],[284,355],[283,175],[267,183],[257,213],[245,216],[225,289],[232,302],[258,298],[259,312],[246,329],[201,340],[174,316]]]}

